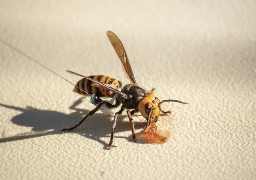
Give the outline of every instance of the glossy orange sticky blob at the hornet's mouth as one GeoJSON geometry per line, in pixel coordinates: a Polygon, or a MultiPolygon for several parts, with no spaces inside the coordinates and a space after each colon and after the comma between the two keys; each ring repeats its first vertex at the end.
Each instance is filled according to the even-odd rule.
{"type": "Polygon", "coordinates": [[[148,128],[140,135],[140,138],[146,143],[164,144],[170,137],[170,132],[157,130],[155,122],[150,123],[148,128]]]}

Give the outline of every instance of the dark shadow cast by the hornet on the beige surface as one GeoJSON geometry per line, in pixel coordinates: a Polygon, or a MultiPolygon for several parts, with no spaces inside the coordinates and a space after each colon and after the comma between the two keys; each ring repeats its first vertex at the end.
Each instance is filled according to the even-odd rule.
{"type": "MultiPolygon", "coordinates": [[[[41,110],[32,107],[19,108],[0,103],[0,106],[2,107],[22,112],[11,119],[14,124],[18,126],[32,127],[31,132],[1,138],[0,143],[35,138],[45,135],[61,134],[61,130],[63,128],[74,126],[82,119],[83,116],[89,113],[89,110],[76,108],[76,106],[82,103],[82,99],[83,98],[78,99],[69,107],[71,110],[75,110],[69,114],[57,111],[41,110]]],[[[103,144],[105,148],[108,146],[108,142],[101,140],[101,138],[110,137],[112,121],[113,117],[106,116],[103,113],[96,113],[91,118],[88,117],[88,119],[84,121],[81,126],[78,126],[77,129],[69,133],[77,133],[86,138],[96,140],[103,144]]],[[[143,128],[145,126],[145,122],[136,121],[135,126],[136,129],[143,128]]],[[[123,115],[119,116],[118,118],[115,133],[128,130],[131,130],[131,125],[128,121],[126,113],[123,113],[123,115]]],[[[116,138],[125,138],[132,142],[132,138],[130,136],[119,136],[116,138]]]]}

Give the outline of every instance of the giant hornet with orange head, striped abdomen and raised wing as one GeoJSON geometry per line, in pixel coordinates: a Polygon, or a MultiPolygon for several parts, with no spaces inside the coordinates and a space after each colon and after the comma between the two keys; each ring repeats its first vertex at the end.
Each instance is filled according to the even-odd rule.
{"type": "MultiPolygon", "coordinates": [[[[133,75],[133,71],[131,65],[129,63],[127,53],[123,47],[121,40],[119,40],[118,36],[114,34],[112,31],[107,31],[107,36],[114,47],[115,52],[117,53],[121,63],[123,65],[123,72],[126,77],[130,81],[130,84],[124,85],[122,88],[122,83],[114,78],[109,76],[83,76],[76,72],[67,71],[71,74],[82,76],[83,78],[77,82],[73,91],[82,95],[90,95],[91,103],[96,105],[96,108],[91,110],[76,126],[73,126],[68,129],[63,129],[62,132],[68,132],[79,125],[82,124],[83,121],[86,120],[88,116],[92,116],[99,109],[105,113],[111,113],[112,110],[122,104],[120,110],[115,112],[114,120],[112,123],[111,137],[108,148],[111,148],[114,139],[114,128],[116,126],[117,117],[123,112],[124,109],[127,109],[127,115],[129,122],[132,126],[132,136],[133,141],[136,142],[135,135],[135,124],[132,118],[132,115],[135,112],[140,112],[142,116],[146,119],[146,127],[155,123],[159,119],[160,112],[166,114],[161,108],[161,104],[165,102],[177,102],[184,103],[182,101],[167,99],[160,101],[155,94],[148,93],[146,90],[142,89],[137,85],[135,81],[135,77],[133,75]],[[103,100],[100,97],[112,97],[110,101],[103,100]],[[131,110],[131,111],[130,111],[131,110]]],[[[66,80],[67,81],[67,80],[66,80]]]]}

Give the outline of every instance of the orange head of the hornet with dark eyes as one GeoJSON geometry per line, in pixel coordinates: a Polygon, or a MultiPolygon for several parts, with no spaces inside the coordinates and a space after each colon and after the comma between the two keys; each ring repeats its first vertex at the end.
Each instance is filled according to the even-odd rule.
{"type": "Polygon", "coordinates": [[[146,97],[140,100],[138,104],[138,110],[141,112],[142,116],[146,119],[148,118],[148,114],[152,108],[152,113],[150,117],[150,122],[156,122],[159,118],[159,108],[158,103],[160,103],[160,100],[155,97],[154,94],[147,94],[146,97]]]}

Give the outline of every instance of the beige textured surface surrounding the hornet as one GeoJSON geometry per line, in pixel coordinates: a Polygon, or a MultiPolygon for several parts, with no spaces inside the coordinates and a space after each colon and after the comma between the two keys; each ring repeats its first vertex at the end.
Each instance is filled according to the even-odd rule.
{"type": "MultiPolygon", "coordinates": [[[[123,114],[97,113],[72,85],[0,43],[0,179],[256,179],[256,1],[0,0],[0,39],[72,82],[127,82],[105,31],[123,41],[137,82],[171,116],[166,144],[134,144],[123,114]]],[[[136,132],[145,125],[134,116],[136,132]]]]}

